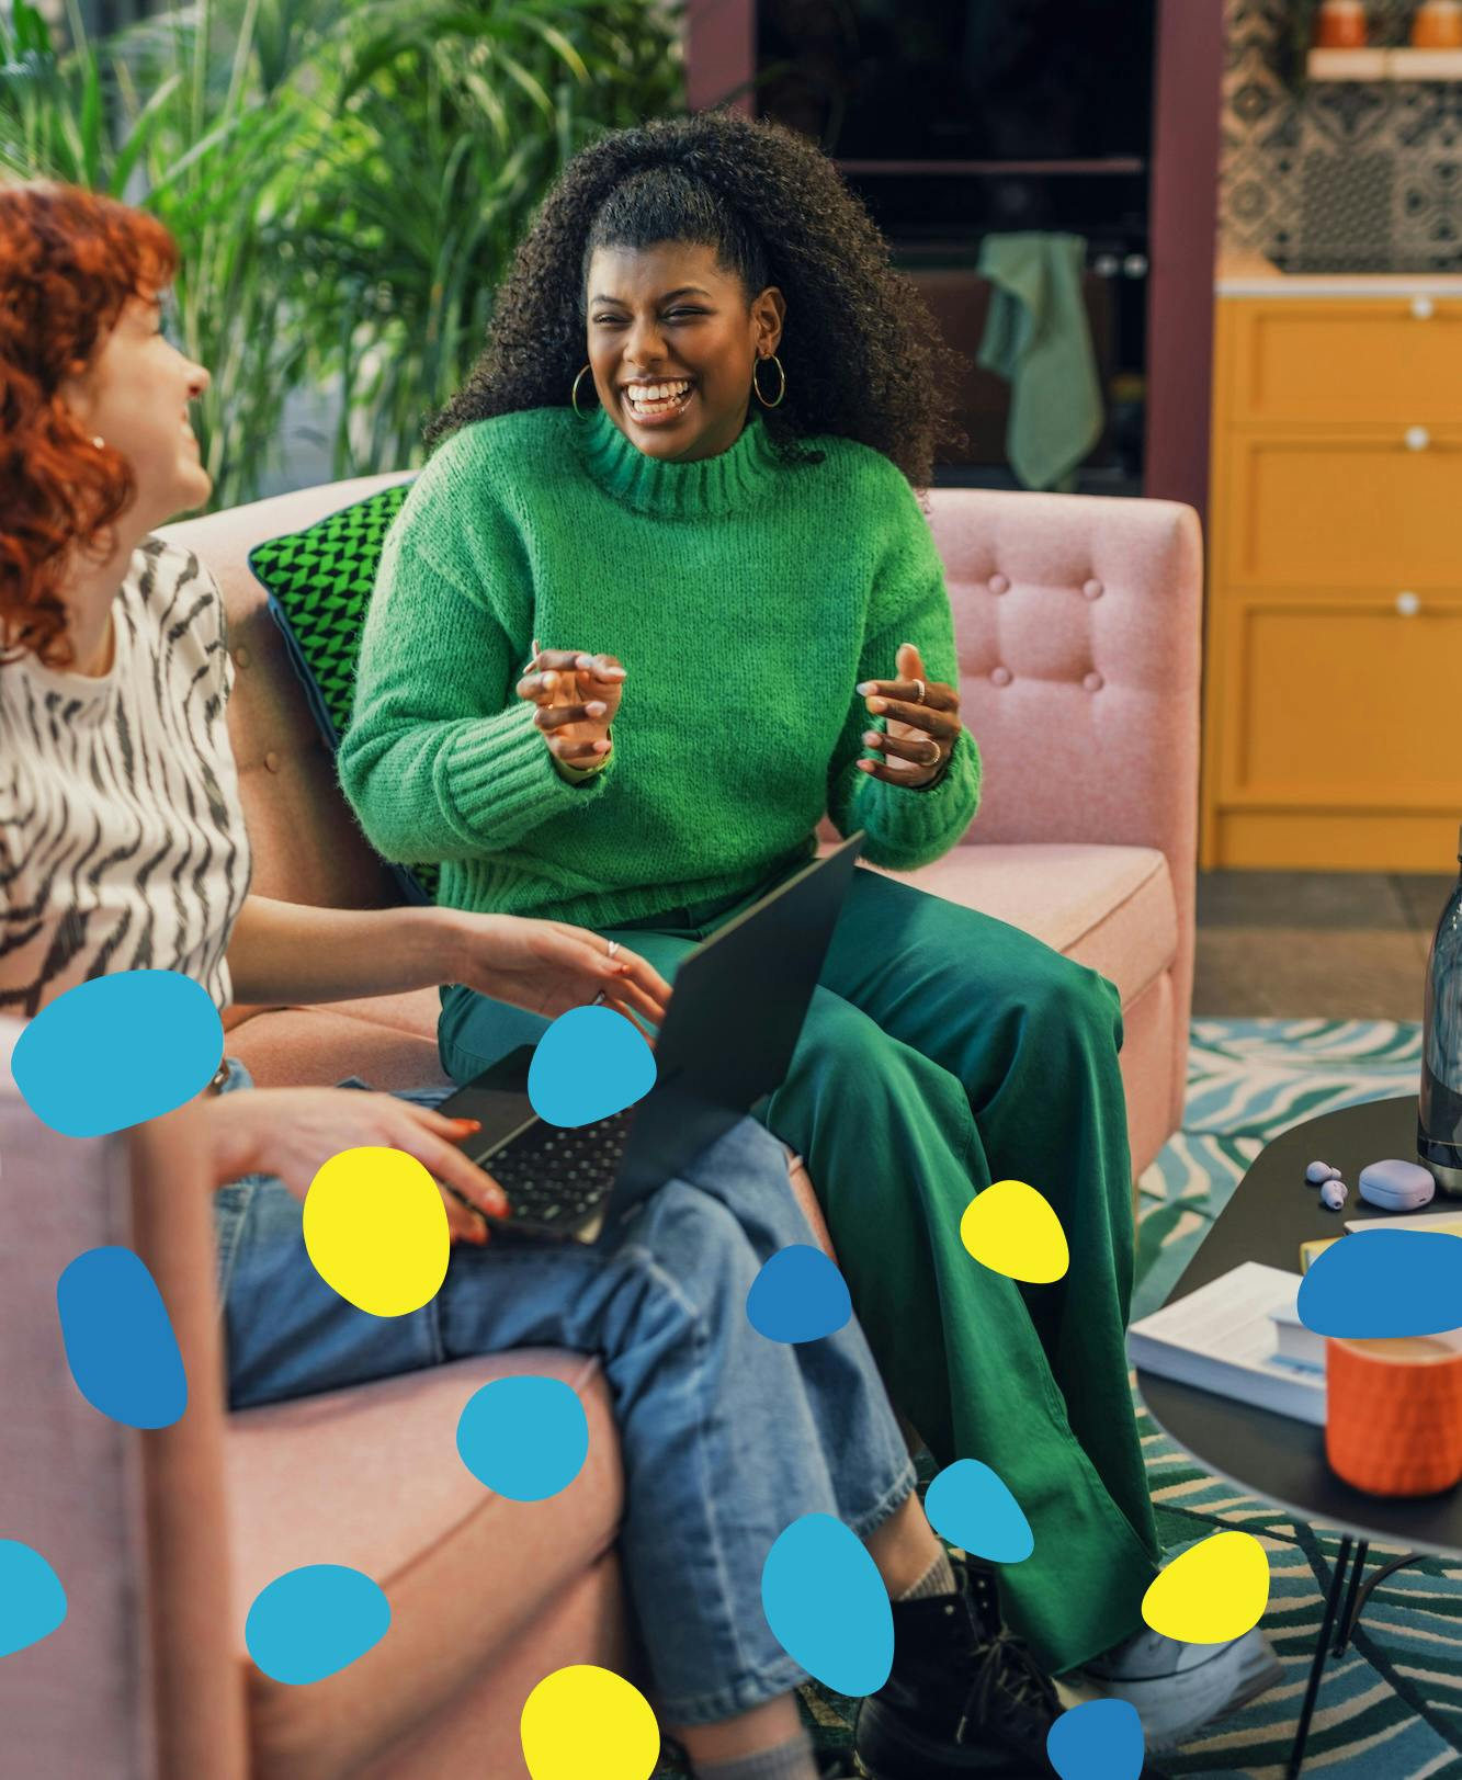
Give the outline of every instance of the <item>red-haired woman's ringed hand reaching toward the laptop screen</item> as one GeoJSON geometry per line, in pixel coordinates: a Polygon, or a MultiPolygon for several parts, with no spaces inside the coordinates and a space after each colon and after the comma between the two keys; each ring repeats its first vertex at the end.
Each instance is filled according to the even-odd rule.
{"type": "Polygon", "coordinates": [[[630,1020],[636,1015],[655,1025],[664,1020],[670,984],[627,945],[614,945],[611,952],[607,940],[563,920],[531,920],[525,915],[458,918],[461,934],[454,983],[548,1020],[595,1002],[630,1020]]]}

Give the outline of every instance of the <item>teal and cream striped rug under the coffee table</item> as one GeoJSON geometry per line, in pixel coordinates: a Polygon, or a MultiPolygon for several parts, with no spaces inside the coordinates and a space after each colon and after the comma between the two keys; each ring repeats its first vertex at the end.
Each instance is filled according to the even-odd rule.
{"type": "MultiPolygon", "coordinates": [[[[1248,1162],[1289,1125],[1416,1086],[1419,1029],[1384,1020],[1197,1020],[1182,1130],[1140,1182],[1134,1315],[1156,1308],[1248,1162]]],[[[1336,1538],[1211,1477],[1140,1417],[1165,1547],[1241,1527],[1270,1552],[1263,1625],[1284,1682],[1163,1757],[1174,1776],[1280,1780],[1320,1632],[1336,1538]]],[[[1371,1547],[1378,1565],[1400,1552],[1371,1547]]],[[[823,1746],[849,1741],[855,1702],[803,1691],[823,1746]]],[[[1462,1561],[1426,1559],[1371,1597],[1330,1661],[1305,1760],[1325,1780],[1462,1780],[1462,1561]]],[[[673,1773],[673,1769],[666,1769],[673,1773]]]]}

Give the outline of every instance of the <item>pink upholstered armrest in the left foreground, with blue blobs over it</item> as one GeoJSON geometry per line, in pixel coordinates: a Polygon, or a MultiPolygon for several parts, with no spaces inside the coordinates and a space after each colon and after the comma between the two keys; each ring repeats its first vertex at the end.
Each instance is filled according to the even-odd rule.
{"type": "Polygon", "coordinates": [[[0,1661],[0,1766],[242,1780],[199,1112],[61,1137],[14,1086],[20,1031],[0,1020],[0,1536],[46,1558],[68,1613],[50,1638],[0,1661]],[[183,1353],[187,1412],[155,1433],[93,1410],[66,1363],[55,1283],[77,1255],[110,1244],[146,1260],[183,1353]]]}

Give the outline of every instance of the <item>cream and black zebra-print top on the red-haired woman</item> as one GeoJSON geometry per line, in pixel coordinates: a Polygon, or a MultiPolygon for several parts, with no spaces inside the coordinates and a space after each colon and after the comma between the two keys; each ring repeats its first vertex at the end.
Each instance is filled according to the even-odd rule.
{"type": "Polygon", "coordinates": [[[224,1007],[249,840],[224,705],[223,596],[148,538],[107,675],[0,668],[0,1009],[110,970],[180,970],[224,1007]]]}

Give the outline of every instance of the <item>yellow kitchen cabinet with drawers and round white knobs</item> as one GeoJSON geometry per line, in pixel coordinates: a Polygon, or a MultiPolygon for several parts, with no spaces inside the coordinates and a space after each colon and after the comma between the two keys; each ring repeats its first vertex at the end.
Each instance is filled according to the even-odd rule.
{"type": "Polygon", "coordinates": [[[1462,285],[1220,297],[1202,863],[1450,870],[1462,285]]]}

